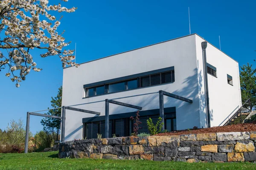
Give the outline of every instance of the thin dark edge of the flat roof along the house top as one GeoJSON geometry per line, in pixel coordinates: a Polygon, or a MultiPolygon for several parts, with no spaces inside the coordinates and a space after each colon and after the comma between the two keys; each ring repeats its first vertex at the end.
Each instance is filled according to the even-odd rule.
{"type": "MultiPolygon", "coordinates": [[[[199,36],[199,37],[201,37],[200,35],[198,35],[197,33],[193,33],[193,34],[190,34],[190,35],[197,35],[197,36],[199,36]]],[[[188,37],[188,36],[190,36],[190,35],[185,35],[185,36],[182,36],[182,37],[177,37],[177,38],[174,38],[174,39],[171,39],[171,40],[166,40],[166,41],[162,41],[162,42],[159,42],[159,43],[154,43],[154,44],[151,44],[151,45],[148,45],[148,46],[154,46],[154,45],[156,45],[156,44],[160,44],[160,43],[165,43],[165,42],[168,42],[168,41],[172,41],[172,40],[177,40],[177,39],[179,39],[179,38],[183,38],[183,37],[188,37]]],[[[205,40],[203,37],[201,37],[203,40],[205,40]]],[[[207,40],[205,40],[207,43],[209,43],[207,40]]],[[[211,43],[209,43],[209,44],[211,44],[211,43]]],[[[211,44],[212,45],[212,44],[211,44]]],[[[140,48],[137,48],[137,49],[142,49],[142,48],[145,48],[145,47],[148,47],[148,46],[143,46],[143,47],[140,47],[140,48]]],[[[212,45],[212,46],[214,46],[214,45],[212,45]]],[[[216,49],[218,49],[216,46],[214,46],[216,49]]],[[[134,51],[134,50],[137,50],[137,49],[131,49],[131,50],[128,50],[128,51],[125,51],[125,52],[131,52],[131,51],[134,51]]],[[[219,51],[221,51],[220,49],[218,49],[219,51]]],[[[101,60],[101,59],[103,59],[103,58],[108,58],[108,57],[111,57],[111,56],[114,56],[114,55],[119,55],[119,54],[122,54],[122,53],[125,53],[125,52],[120,52],[120,53],[117,53],[117,54],[113,54],[113,55],[108,55],[108,56],[106,56],[106,57],[102,57],[102,58],[98,58],[98,59],[95,59],[95,60],[91,60],[91,61],[87,61],[87,62],[84,62],[84,63],[80,63],[79,65],[81,65],[81,64],[85,64],[85,63],[90,63],[90,62],[92,62],[92,61],[97,61],[97,60],[101,60]]],[[[222,53],[224,53],[223,51],[221,51],[222,53]]],[[[224,53],[225,55],[227,55],[226,53],[224,53]]],[[[229,55],[227,55],[228,57],[230,57],[229,55]]],[[[231,57],[230,57],[231,58],[231,57]]],[[[231,58],[231,59],[233,59],[233,58],[231,58]]],[[[234,61],[236,61],[235,59],[233,59],[234,61]]],[[[237,62],[237,61],[236,61],[237,62]]],[[[237,62],[238,63],[238,62],[237,62]]],[[[70,67],[72,67],[72,66],[68,66],[68,67],[65,67],[65,68],[63,68],[63,69],[67,69],[67,68],[70,68],[70,67]]]]}

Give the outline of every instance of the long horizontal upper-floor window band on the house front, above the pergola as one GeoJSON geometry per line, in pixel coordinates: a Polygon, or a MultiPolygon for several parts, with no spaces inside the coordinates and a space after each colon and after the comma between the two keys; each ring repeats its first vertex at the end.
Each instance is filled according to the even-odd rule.
{"type": "Polygon", "coordinates": [[[122,92],[125,90],[137,89],[148,86],[155,86],[159,84],[172,83],[175,81],[174,69],[167,72],[160,72],[157,74],[143,75],[134,79],[119,81],[116,83],[102,84],[84,88],[84,97],[92,97],[96,95],[104,95],[113,92],[122,92]]]}

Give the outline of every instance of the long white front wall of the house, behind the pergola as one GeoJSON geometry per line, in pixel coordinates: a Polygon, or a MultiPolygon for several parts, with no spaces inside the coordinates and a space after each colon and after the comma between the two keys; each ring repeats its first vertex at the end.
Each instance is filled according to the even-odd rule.
{"type": "MultiPolygon", "coordinates": [[[[164,107],[176,107],[177,130],[201,127],[198,100],[198,71],[196,60],[195,37],[189,35],[175,40],[158,43],[153,46],[136,49],[108,58],[81,64],[79,68],[70,67],[63,73],[63,98],[62,104],[69,106],[106,98],[118,98],[129,95],[138,95],[164,90],[193,100],[192,104],[164,97],[164,107]],[[112,78],[119,78],[166,67],[175,67],[175,82],[172,84],[151,86],[148,88],[134,89],[127,92],[83,98],[83,85],[112,78]]],[[[158,109],[158,94],[125,98],[123,101],[143,107],[143,110],[158,109]]],[[[105,102],[82,105],[77,108],[101,112],[105,115],[105,102]]],[[[136,111],[110,104],[110,114],[136,111]]],[[[82,118],[94,115],[67,110],[65,141],[82,137],[82,118]]],[[[202,118],[201,118],[202,119],[202,118]]]]}

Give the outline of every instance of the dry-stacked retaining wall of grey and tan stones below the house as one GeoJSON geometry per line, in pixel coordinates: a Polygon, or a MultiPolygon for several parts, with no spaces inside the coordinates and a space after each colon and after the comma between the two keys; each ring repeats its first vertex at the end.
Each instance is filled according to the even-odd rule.
{"type": "Polygon", "coordinates": [[[256,132],[201,133],[67,141],[59,157],[154,161],[256,161],[256,132]]]}

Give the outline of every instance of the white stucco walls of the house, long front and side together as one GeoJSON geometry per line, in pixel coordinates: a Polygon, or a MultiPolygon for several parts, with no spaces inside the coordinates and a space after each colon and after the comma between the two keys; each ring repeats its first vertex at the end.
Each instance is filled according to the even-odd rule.
{"type": "MultiPolygon", "coordinates": [[[[124,52],[96,61],[83,63],[79,68],[69,67],[63,71],[62,104],[70,106],[106,98],[120,98],[164,90],[193,100],[192,104],[164,96],[164,107],[176,107],[177,130],[207,127],[205,108],[203,56],[198,35],[189,35],[175,40],[124,52]],[[83,98],[83,85],[148,72],[166,67],[175,67],[175,82],[130,91],[83,98]]],[[[241,106],[238,63],[216,49],[207,46],[207,63],[217,68],[217,77],[208,74],[211,127],[219,126],[228,115],[241,106]],[[233,77],[233,86],[227,84],[227,74],[233,77]]],[[[128,104],[143,107],[143,110],[159,109],[159,95],[151,94],[119,99],[128,104]]],[[[76,106],[105,115],[105,102],[76,106]]],[[[110,115],[133,112],[136,109],[110,104],[110,115]]],[[[97,115],[66,110],[65,141],[82,137],[82,118],[97,115]]]]}

